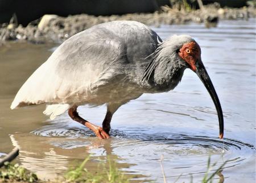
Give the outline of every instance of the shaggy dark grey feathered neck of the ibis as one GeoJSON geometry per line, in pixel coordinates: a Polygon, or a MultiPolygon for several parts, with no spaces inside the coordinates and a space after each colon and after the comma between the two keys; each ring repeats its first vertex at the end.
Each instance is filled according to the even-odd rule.
{"type": "Polygon", "coordinates": [[[147,65],[143,80],[153,90],[170,91],[179,84],[186,67],[177,57],[161,52],[161,49],[156,50],[155,56],[147,65]]]}

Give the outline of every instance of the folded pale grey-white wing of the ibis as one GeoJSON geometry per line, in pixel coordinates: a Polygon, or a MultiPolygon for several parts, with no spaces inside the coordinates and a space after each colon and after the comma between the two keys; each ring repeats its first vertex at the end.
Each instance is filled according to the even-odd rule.
{"type": "Polygon", "coordinates": [[[121,72],[112,65],[122,60],[123,49],[118,37],[104,28],[90,28],[72,36],[28,78],[11,109],[45,102],[71,104],[87,100],[92,86],[105,84],[121,72]]]}

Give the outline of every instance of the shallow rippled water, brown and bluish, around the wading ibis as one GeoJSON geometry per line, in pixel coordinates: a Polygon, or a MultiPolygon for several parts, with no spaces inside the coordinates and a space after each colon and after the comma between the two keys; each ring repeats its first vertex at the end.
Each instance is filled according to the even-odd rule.
{"type": "MultiPolygon", "coordinates": [[[[196,74],[186,70],[174,91],[144,94],[123,105],[112,120],[112,138],[98,140],[67,114],[51,121],[45,105],[10,110],[14,95],[55,45],[6,43],[0,47],[0,156],[20,148],[18,161],[40,178],[52,179],[89,154],[87,169],[110,159],[133,181],[168,182],[202,179],[207,159],[225,165],[225,182],[255,182],[255,19],[224,21],[217,28],[202,24],[154,28],[163,38],[190,34],[200,44],[202,59],[220,98],[225,120],[218,139],[216,109],[196,74]],[[225,152],[223,150],[225,142],[225,152]]],[[[82,106],[80,114],[100,125],[105,106],[82,106]]],[[[214,182],[219,181],[216,176],[214,182]]],[[[221,182],[221,181],[220,181],[221,182]]]]}

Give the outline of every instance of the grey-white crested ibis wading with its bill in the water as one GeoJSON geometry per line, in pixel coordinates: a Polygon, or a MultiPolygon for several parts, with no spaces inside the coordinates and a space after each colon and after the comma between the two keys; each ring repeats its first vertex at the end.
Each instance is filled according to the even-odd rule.
{"type": "Polygon", "coordinates": [[[97,24],[65,40],[24,82],[10,108],[46,103],[43,114],[50,119],[68,111],[99,139],[108,139],[120,106],[143,93],[173,90],[187,68],[199,76],[214,102],[222,139],[222,109],[199,44],[189,35],[163,41],[150,27],[130,20],[97,24]],[[80,117],[81,105],[106,105],[102,127],[80,117]]]}

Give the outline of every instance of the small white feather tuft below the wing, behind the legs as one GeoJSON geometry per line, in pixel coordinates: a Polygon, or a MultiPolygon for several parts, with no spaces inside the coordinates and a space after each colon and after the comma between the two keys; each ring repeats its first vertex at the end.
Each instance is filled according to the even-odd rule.
{"type": "Polygon", "coordinates": [[[57,115],[65,113],[70,107],[68,104],[46,105],[46,110],[43,111],[43,114],[50,115],[50,119],[54,119],[57,115]]]}

